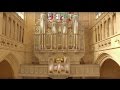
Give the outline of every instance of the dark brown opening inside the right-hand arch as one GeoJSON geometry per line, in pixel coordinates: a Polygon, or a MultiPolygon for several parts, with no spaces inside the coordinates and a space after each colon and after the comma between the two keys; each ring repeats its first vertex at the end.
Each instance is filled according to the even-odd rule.
{"type": "Polygon", "coordinates": [[[120,79],[120,66],[112,59],[105,60],[100,68],[100,79],[120,79]]]}

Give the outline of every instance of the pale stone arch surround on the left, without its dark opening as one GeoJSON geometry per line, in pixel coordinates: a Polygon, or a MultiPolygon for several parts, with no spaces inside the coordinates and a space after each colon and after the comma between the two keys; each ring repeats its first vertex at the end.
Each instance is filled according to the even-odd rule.
{"type": "Polygon", "coordinates": [[[0,56],[0,63],[6,61],[9,63],[13,70],[13,76],[14,78],[18,78],[18,70],[19,70],[19,62],[15,55],[11,52],[3,52],[3,54],[0,56]]]}

